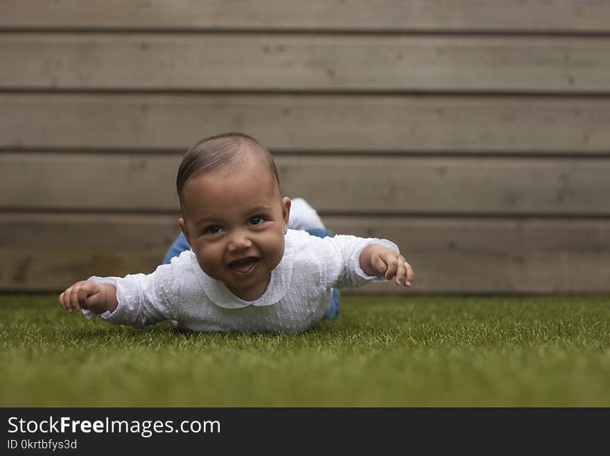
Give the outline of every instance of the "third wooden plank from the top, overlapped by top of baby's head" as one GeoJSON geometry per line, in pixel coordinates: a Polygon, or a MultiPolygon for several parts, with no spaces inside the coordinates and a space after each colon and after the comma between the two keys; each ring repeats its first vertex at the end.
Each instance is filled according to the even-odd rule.
{"type": "Polygon", "coordinates": [[[0,94],[0,149],[184,150],[243,131],[272,151],[604,153],[610,98],[0,94]]]}

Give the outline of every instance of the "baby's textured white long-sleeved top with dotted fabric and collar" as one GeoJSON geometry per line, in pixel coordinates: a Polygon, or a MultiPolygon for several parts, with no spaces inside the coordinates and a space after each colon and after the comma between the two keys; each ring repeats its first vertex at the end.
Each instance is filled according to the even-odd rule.
{"type": "MultiPolygon", "coordinates": [[[[367,276],[360,268],[360,253],[370,244],[399,251],[385,239],[350,235],[322,239],[288,230],[284,257],[271,271],[265,293],[255,301],[243,301],[223,282],[207,276],[190,250],[150,274],[89,280],[116,287],[118,307],[100,315],[110,323],[145,326],[170,319],[196,331],[299,332],[329,310],[332,287],[387,281],[367,276]]],[[[96,316],[82,312],[89,319],[96,316]]]]}

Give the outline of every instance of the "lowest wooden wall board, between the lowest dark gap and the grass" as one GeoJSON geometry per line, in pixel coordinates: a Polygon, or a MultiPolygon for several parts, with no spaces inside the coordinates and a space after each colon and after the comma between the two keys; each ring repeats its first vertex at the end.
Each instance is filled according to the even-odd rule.
{"type": "MultiPolygon", "coordinates": [[[[338,234],[392,239],[410,293],[609,292],[610,221],[324,217],[338,234]]],[[[150,272],[173,216],[0,214],[0,290],[61,290],[91,275],[150,272]]],[[[357,292],[400,292],[391,284],[357,292]]]]}

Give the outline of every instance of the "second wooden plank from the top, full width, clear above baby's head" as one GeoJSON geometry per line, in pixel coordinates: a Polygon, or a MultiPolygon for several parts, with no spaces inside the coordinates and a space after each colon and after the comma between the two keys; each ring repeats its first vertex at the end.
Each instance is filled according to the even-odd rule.
{"type": "Polygon", "coordinates": [[[15,89],[610,92],[610,37],[5,33],[0,58],[15,89]]]}

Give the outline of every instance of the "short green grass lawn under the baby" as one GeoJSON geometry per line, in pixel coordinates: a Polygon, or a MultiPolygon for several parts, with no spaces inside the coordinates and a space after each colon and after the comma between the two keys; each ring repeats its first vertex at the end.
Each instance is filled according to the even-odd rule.
{"type": "Polygon", "coordinates": [[[342,296],[302,335],[185,334],[0,295],[3,407],[610,406],[610,296],[342,296]]]}

